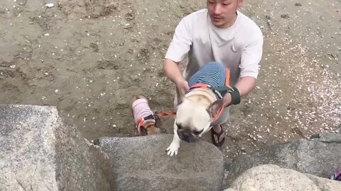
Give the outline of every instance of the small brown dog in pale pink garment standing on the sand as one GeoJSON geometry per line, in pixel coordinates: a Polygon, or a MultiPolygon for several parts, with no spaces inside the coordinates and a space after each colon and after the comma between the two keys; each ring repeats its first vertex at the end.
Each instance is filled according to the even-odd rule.
{"type": "Polygon", "coordinates": [[[154,114],[144,96],[134,96],[131,100],[131,111],[141,136],[161,133],[160,128],[155,126],[154,114]]]}

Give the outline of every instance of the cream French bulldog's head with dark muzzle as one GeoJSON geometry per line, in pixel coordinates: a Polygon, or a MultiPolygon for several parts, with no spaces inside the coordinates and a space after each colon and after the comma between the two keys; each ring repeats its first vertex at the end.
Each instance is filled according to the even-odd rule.
{"type": "Polygon", "coordinates": [[[223,101],[216,100],[212,104],[183,99],[178,105],[175,117],[177,133],[181,140],[194,142],[210,129],[213,117],[222,107],[223,101]]]}

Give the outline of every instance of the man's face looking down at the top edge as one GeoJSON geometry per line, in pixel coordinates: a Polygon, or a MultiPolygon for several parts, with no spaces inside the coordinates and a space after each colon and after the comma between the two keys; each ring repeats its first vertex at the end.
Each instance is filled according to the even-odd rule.
{"type": "Polygon", "coordinates": [[[213,25],[228,28],[237,18],[237,8],[243,0],[207,0],[207,10],[213,25]]]}

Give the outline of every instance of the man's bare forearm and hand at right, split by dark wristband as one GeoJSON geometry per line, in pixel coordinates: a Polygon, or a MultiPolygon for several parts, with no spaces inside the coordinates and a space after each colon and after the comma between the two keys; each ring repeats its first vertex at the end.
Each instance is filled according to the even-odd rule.
{"type": "MultiPolygon", "coordinates": [[[[256,86],[256,79],[254,77],[242,77],[237,81],[236,88],[238,89],[240,93],[240,97],[247,96],[247,94],[256,86]]],[[[231,94],[227,93],[224,98],[224,107],[229,105],[231,103],[231,94]]]]}

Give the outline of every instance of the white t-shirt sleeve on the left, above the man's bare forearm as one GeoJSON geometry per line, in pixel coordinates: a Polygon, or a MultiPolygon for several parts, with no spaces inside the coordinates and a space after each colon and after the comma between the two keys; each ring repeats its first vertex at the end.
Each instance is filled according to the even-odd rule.
{"type": "Polygon", "coordinates": [[[188,51],[190,51],[190,46],[193,43],[193,35],[189,23],[188,19],[183,18],[175,28],[173,40],[166,53],[166,59],[181,62],[188,51]]]}

